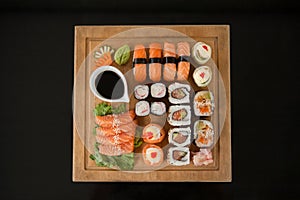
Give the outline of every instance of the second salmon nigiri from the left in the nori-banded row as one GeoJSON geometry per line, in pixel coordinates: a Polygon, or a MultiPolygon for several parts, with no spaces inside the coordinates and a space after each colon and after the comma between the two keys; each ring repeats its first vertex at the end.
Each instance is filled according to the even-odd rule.
{"type": "Polygon", "coordinates": [[[154,82],[159,82],[161,79],[161,44],[151,43],[149,45],[149,77],[154,82]]]}

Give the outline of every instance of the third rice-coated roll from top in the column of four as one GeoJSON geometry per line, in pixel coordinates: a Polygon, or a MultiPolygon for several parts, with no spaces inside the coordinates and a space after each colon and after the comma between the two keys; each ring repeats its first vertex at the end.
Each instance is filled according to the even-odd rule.
{"type": "Polygon", "coordinates": [[[169,130],[168,140],[170,144],[184,147],[190,145],[192,142],[191,129],[187,128],[173,128],[169,130]]]}

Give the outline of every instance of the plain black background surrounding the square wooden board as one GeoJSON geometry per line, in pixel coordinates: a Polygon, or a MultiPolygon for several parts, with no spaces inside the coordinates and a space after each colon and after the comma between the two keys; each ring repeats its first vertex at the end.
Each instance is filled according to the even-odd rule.
{"type": "Polygon", "coordinates": [[[299,199],[299,3],[1,1],[0,199],[299,199]],[[73,183],[74,25],[229,24],[232,183],[73,183]]]}

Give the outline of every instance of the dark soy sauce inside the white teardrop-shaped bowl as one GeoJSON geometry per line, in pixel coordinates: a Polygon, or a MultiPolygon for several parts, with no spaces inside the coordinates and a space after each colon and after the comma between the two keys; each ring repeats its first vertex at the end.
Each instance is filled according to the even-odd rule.
{"type": "Polygon", "coordinates": [[[105,71],[96,78],[96,87],[106,99],[119,99],[124,95],[124,83],[120,76],[112,71],[105,71]]]}

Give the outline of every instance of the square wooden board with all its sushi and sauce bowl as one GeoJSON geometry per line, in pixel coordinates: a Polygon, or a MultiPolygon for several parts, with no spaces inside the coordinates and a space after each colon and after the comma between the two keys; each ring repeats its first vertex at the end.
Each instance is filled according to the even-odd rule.
{"type": "Polygon", "coordinates": [[[231,181],[229,26],[76,26],[73,181],[231,181]]]}

